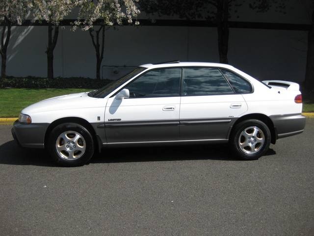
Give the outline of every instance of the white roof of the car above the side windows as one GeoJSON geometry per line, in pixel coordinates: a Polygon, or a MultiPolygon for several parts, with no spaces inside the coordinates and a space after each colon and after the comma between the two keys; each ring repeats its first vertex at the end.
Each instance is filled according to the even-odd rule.
{"type": "Polygon", "coordinates": [[[235,69],[232,65],[212,62],[173,62],[173,63],[160,63],[160,64],[143,64],[140,67],[149,69],[161,68],[161,67],[178,67],[178,66],[209,66],[209,67],[222,67],[227,69],[235,69]]]}

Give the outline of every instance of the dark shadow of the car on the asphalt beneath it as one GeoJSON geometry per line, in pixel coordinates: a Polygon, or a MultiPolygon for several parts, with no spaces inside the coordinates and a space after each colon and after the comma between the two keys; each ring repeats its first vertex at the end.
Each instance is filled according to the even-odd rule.
{"type": "MultiPolygon", "coordinates": [[[[274,155],[269,149],[264,155],[274,155]]],[[[90,163],[147,161],[222,160],[239,161],[228,145],[184,145],[140,148],[106,148],[96,153],[90,163]]],[[[0,146],[0,164],[55,167],[44,149],[20,148],[14,141],[0,146]]]]}

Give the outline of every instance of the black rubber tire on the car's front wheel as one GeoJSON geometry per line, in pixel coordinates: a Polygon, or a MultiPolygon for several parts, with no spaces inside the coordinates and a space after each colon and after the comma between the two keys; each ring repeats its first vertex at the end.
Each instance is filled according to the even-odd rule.
{"type": "MultiPolygon", "coordinates": [[[[73,149],[75,148],[78,149],[78,147],[75,146],[75,143],[69,144],[69,145],[73,145],[72,146],[73,149]]],[[[74,167],[74,166],[85,165],[92,158],[94,154],[94,149],[95,149],[94,140],[91,133],[85,127],[77,123],[63,123],[54,127],[52,129],[52,132],[49,135],[47,146],[48,146],[47,149],[52,159],[59,166],[64,166],[64,167],[74,167]],[[69,148],[67,148],[69,152],[67,152],[66,150],[65,151],[62,150],[61,153],[59,154],[56,146],[57,146],[57,141],[61,142],[61,144],[64,143],[64,140],[62,138],[59,138],[59,136],[66,132],[66,135],[67,135],[66,137],[71,137],[69,136],[69,135],[72,135],[71,131],[73,132],[72,134],[78,135],[78,137],[80,137],[78,142],[80,142],[81,146],[78,146],[78,145],[77,146],[83,147],[85,149],[83,151],[80,151],[80,150],[73,151],[73,153],[78,153],[77,158],[73,156],[73,159],[66,159],[68,158],[66,154],[68,153],[69,155],[69,153],[72,152],[72,149],[70,151],[69,148]]],[[[63,144],[61,146],[64,147],[63,144]]]]}

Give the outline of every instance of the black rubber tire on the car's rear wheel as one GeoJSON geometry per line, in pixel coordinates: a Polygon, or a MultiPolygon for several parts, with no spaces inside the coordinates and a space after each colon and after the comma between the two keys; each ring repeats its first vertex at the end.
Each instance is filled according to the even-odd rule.
{"type": "Polygon", "coordinates": [[[258,119],[248,119],[248,120],[244,120],[236,124],[231,133],[230,140],[229,140],[232,153],[235,153],[236,156],[242,160],[259,159],[268,150],[270,141],[271,141],[271,133],[268,126],[264,122],[258,119]],[[258,129],[260,129],[260,131],[262,131],[262,132],[259,131],[258,136],[259,138],[263,136],[263,140],[264,140],[263,144],[261,143],[257,144],[254,140],[258,140],[258,139],[254,139],[254,138],[252,139],[252,137],[254,136],[249,135],[247,139],[244,137],[242,132],[244,132],[245,129],[248,131],[255,130],[255,129],[248,129],[249,127],[257,127],[258,129]],[[240,135],[241,135],[241,138],[240,138],[240,135]],[[239,138],[240,138],[240,141],[239,141],[239,138]],[[249,142],[249,138],[250,140],[252,140],[252,143],[254,146],[250,147],[250,144],[252,143],[248,143],[246,147],[243,147],[245,146],[244,144],[246,144],[246,142],[249,142]],[[240,144],[241,145],[243,144],[242,148],[240,147],[240,144]],[[250,153],[250,152],[255,152],[255,153],[250,153]]]}

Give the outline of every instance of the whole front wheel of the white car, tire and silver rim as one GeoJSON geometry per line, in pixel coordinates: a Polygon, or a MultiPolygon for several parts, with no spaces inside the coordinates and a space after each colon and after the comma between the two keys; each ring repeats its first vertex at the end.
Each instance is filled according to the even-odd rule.
{"type": "Polygon", "coordinates": [[[52,129],[48,149],[60,166],[82,166],[94,154],[94,141],[90,132],[82,125],[63,123],[52,129]]]}

